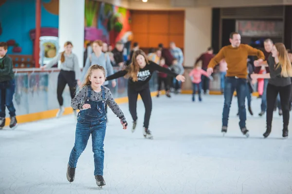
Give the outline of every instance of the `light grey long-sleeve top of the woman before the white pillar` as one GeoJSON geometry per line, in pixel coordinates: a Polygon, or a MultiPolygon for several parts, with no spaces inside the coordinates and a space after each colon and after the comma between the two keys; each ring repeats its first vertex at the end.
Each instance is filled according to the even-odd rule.
{"type": "MultiPolygon", "coordinates": [[[[46,68],[52,67],[54,64],[56,64],[58,61],[61,60],[62,53],[59,53],[57,56],[55,56],[52,61],[50,61],[46,68]]],[[[60,68],[64,71],[74,71],[75,72],[75,79],[81,81],[81,71],[80,66],[78,64],[78,58],[74,53],[71,53],[69,56],[64,54],[65,61],[61,63],[60,68]]]]}

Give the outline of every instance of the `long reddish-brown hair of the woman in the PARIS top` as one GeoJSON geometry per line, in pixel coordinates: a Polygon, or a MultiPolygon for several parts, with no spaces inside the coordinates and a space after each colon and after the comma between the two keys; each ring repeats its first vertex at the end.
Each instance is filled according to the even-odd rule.
{"type": "Polygon", "coordinates": [[[132,78],[133,81],[138,81],[137,74],[140,70],[140,66],[138,65],[138,62],[136,59],[138,55],[144,56],[146,65],[149,64],[147,56],[143,50],[139,49],[139,50],[134,51],[133,56],[132,56],[132,63],[129,65],[128,74],[126,75],[126,78],[132,78]]]}

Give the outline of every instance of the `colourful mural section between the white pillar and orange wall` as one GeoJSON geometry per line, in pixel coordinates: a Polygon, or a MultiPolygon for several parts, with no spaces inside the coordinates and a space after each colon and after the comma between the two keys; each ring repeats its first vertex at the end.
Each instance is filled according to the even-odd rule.
{"type": "Polygon", "coordinates": [[[110,45],[117,41],[128,43],[133,39],[130,29],[130,11],[95,0],[85,1],[85,45],[100,39],[110,45]]]}

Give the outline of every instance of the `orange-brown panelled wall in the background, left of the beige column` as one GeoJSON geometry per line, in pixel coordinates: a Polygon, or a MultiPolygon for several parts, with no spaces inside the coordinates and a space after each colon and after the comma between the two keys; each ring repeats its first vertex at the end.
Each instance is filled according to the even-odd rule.
{"type": "Polygon", "coordinates": [[[134,42],[141,48],[157,48],[159,43],[169,47],[174,41],[183,49],[184,11],[131,11],[134,42]]]}

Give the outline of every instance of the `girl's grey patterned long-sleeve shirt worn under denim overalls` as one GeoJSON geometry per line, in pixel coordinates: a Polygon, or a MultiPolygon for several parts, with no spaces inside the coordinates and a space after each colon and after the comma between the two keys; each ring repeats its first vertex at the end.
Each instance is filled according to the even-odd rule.
{"type": "MultiPolygon", "coordinates": [[[[84,86],[72,99],[71,101],[71,107],[75,110],[82,109],[83,104],[85,100],[87,99],[88,95],[88,88],[91,87],[90,85],[84,86]]],[[[112,112],[117,115],[117,117],[121,118],[123,121],[126,121],[126,118],[124,117],[124,113],[120,109],[119,105],[114,101],[114,98],[110,92],[110,89],[108,87],[105,87],[105,99],[107,104],[109,105],[112,112]]],[[[92,101],[101,101],[102,100],[102,93],[101,92],[94,92],[92,90],[90,100],[92,101]]]]}

